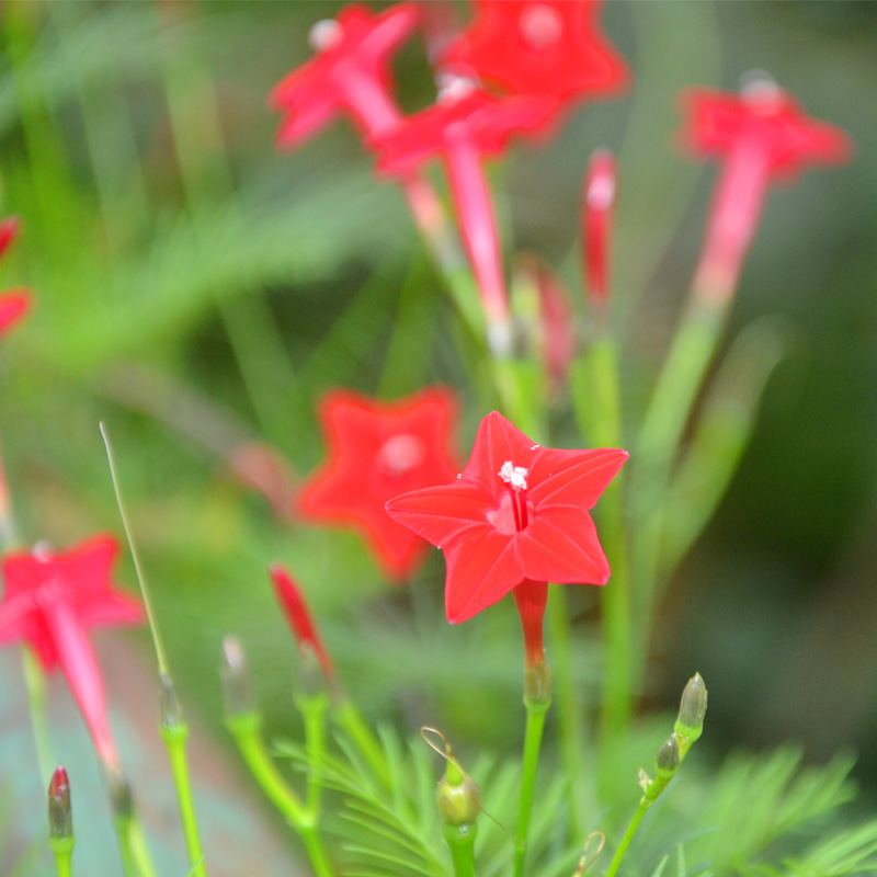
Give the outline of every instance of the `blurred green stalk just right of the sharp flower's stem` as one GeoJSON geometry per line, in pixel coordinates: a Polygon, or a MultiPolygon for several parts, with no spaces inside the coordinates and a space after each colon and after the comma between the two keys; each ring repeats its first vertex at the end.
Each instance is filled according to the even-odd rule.
{"type": "Polygon", "coordinates": [[[588,809],[583,798],[586,783],[585,729],[572,671],[566,592],[559,585],[548,586],[548,630],[551,640],[551,682],[557,699],[560,759],[563,763],[563,774],[569,783],[570,829],[573,836],[578,838],[582,831],[583,813],[588,809]]]}

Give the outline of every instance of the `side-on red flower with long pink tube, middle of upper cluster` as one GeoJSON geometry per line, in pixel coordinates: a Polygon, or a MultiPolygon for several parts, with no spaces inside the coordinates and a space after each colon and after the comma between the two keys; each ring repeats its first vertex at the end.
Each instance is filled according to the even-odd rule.
{"type": "Polygon", "coordinates": [[[498,348],[511,340],[499,338],[508,334],[509,303],[482,160],[501,151],[513,134],[538,129],[550,112],[551,103],[543,98],[498,101],[460,84],[379,140],[379,171],[406,176],[433,157],[447,166],[460,230],[498,348]]]}

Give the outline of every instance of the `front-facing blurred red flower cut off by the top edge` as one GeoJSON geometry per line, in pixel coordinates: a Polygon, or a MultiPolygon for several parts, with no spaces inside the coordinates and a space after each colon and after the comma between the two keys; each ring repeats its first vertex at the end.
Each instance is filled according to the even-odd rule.
{"type": "Polygon", "coordinates": [[[477,0],[475,20],[444,60],[555,102],[615,93],[627,67],[600,32],[597,11],[596,0],[477,0]]]}

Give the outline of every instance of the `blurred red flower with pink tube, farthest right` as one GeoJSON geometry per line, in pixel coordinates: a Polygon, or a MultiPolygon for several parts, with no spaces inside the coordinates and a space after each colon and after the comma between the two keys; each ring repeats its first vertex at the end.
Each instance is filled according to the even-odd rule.
{"type": "Polygon", "coordinates": [[[722,162],[695,288],[725,299],[737,286],[771,183],[791,181],[811,164],[846,161],[852,145],[840,128],[805,115],[764,76],[741,94],[692,89],[684,107],[683,145],[722,162]]]}

